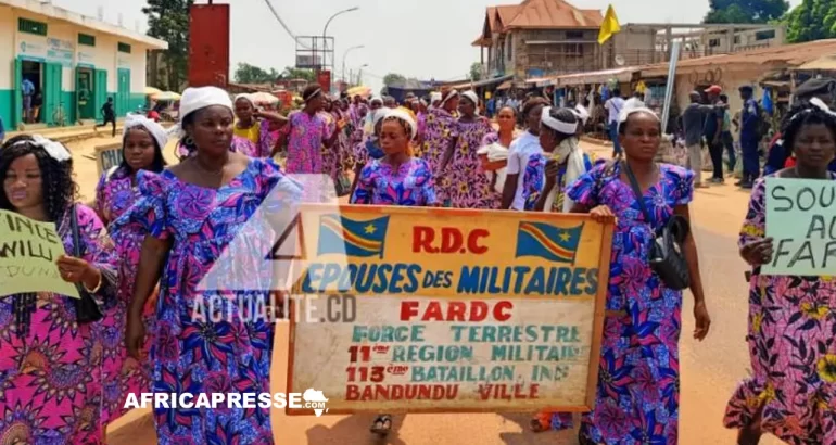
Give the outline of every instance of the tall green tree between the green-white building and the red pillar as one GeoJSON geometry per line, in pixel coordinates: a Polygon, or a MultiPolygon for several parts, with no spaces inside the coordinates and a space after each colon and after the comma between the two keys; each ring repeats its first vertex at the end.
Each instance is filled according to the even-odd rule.
{"type": "Polygon", "coordinates": [[[189,73],[189,8],[194,0],[148,0],[142,13],[148,16],[148,35],[168,42],[163,51],[165,76],[154,84],[166,90],[179,90],[189,73]]]}

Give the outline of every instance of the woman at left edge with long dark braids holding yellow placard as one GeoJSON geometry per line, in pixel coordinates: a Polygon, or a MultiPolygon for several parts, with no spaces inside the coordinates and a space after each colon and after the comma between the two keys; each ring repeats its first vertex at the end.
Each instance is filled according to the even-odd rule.
{"type": "MultiPolygon", "coordinates": [[[[54,223],[73,252],[75,206],[81,258],[56,259],[61,278],[100,305],[115,298],[116,256],[91,208],[76,204],[69,152],[41,137],[18,136],[0,149],[0,208],[54,223]]],[[[2,230],[9,230],[3,228],[2,230]]],[[[0,297],[0,443],[104,443],[102,341],[98,322],[79,323],[69,296],[51,292],[0,297]]]]}

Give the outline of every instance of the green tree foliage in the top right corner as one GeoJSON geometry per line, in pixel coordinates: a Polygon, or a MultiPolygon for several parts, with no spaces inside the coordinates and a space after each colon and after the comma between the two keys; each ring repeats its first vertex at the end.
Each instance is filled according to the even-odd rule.
{"type": "Polygon", "coordinates": [[[836,38],[836,0],[803,0],[785,23],[791,43],[836,38]]]}

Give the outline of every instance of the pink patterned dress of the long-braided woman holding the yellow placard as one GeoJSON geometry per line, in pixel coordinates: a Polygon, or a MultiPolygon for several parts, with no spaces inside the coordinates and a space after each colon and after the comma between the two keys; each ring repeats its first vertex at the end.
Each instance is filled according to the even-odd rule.
{"type": "MultiPolygon", "coordinates": [[[[77,204],[76,213],[83,257],[103,274],[93,295],[102,304],[115,297],[117,259],[96,212],[77,204]]],[[[69,212],[58,226],[64,249],[73,252],[69,212]]],[[[78,325],[71,297],[41,292],[29,331],[21,335],[12,310],[21,297],[0,297],[0,443],[103,444],[97,323],[78,325]]]]}

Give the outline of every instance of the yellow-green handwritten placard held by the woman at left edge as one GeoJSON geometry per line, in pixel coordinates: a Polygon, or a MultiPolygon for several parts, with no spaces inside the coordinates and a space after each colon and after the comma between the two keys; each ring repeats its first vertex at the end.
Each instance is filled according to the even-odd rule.
{"type": "Polygon", "coordinates": [[[0,209],[0,296],[52,292],[78,298],[55,265],[64,253],[54,224],[0,209]]]}

